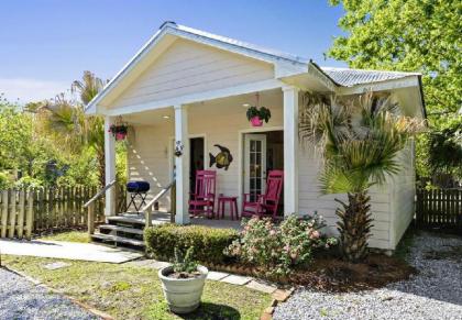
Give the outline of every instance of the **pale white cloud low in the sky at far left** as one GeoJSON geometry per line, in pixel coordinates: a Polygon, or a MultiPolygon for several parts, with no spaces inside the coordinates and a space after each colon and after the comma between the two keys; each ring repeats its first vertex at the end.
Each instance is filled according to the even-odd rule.
{"type": "Polygon", "coordinates": [[[0,93],[4,93],[4,98],[11,102],[28,103],[51,99],[61,92],[68,91],[69,87],[70,82],[0,78],[0,93]]]}

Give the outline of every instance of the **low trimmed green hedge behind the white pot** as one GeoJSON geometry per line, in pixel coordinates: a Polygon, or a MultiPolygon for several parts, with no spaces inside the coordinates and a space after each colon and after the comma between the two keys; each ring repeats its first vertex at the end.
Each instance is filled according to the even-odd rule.
{"type": "Polygon", "coordinates": [[[202,264],[223,264],[230,258],[223,251],[239,233],[232,229],[212,229],[202,225],[178,225],[165,223],[144,231],[146,251],[154,258],[170,261],[174,250],[183,252],[194,246],[194,257],[202,264]]]}

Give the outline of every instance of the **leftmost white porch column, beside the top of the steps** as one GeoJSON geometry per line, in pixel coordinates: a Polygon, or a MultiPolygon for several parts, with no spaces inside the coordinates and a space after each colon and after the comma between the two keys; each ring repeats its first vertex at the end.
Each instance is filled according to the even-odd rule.
{"type": "MultiPolygon", "coordinates": [[[[107,115],[105,118],[105,179],[106,185],[116,179],[116,139],[109,132],[109,128],[114,123],[116,118],[107,115]]],[[[105,216],[114,216],[116,212],[116,189],[110,188],[106,191],[105,216]]]]}

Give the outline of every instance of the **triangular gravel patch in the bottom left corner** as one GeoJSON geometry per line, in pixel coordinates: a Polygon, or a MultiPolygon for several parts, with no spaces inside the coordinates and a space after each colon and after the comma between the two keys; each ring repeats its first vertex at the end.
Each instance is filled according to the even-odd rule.
{"type": "Polygon", "coordinates": [[[0,319],[99,319],[70,300],[0,267],[0,319]]]}

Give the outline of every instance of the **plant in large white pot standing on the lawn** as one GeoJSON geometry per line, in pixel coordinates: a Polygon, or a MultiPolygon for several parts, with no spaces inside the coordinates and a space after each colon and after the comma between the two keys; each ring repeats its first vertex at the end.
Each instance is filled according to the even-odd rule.
{"type": "Polygon", "coordinates": [[[188,313],[197,309],[202,296],[209,271],[193,260],[194,247],[186,255],[175,247],[175,262],[158,271],[164,297],[168,308],[175,313],[188,313]]]}

